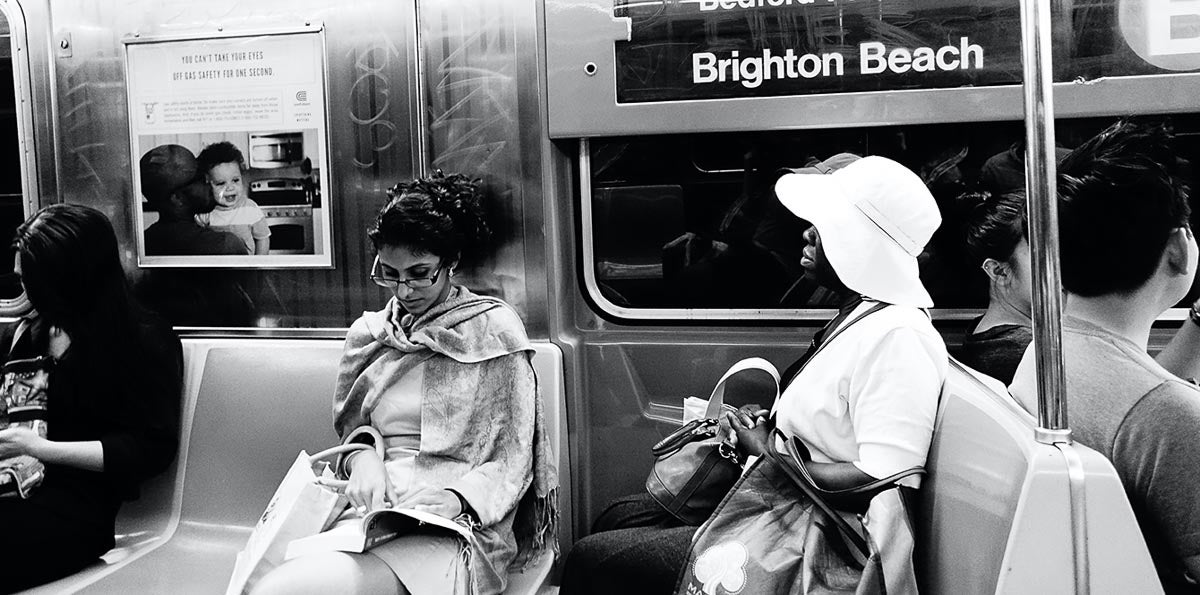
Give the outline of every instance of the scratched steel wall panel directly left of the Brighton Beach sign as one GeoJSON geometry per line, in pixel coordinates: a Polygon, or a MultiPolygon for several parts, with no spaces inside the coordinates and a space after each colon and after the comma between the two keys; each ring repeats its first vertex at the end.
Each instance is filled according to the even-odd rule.
{"type": "Polygon", "coordinates": [[[464,281],[503,295],[546,333],[538,28],[530,1],[421,1],[428,168],[480,178],[497,248],[464,281]]]}

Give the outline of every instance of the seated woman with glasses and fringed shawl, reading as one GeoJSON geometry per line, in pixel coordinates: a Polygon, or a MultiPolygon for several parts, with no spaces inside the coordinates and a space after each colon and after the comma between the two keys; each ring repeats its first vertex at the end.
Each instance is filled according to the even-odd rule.
{"type": "Polygon", "coordinates": [[[452,282],[490,236],[479,188],[439,172],[389,197],[368,236],[371,280],[392,296],[350,327],[334,397],[337,433],[385,455],[342,462],[350,510],[340,523],[415,509],[472,537],[437,529],[361,554],[302,555],[256,594],[498,594],[509,569],[554,545],[557,480],[529,339],[508,303],[452,282]]]}

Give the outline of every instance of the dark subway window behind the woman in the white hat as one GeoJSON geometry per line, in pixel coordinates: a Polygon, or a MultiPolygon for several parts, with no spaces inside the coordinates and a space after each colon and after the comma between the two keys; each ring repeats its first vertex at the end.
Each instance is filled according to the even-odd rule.
{"type": "MultiPolygon", "coordinates": [[[[1060,145],[1075,146],[1111,121],[1060,121],[1060,145]]],[[[1181,157],[1198,162],[1200,118],[1171,121],[1181,157]]],[[[595,139],[596,289],[628,308],[835,306],[844,296],[804,277],[805,223],[772,188],[784,168],[853,152],[893,158],[925,180],[942,227],[918,259],[922,280],[937,307],[983,308],[985,277],[964,250],[968,212],[959,196],[1024,187],[1022,138],[1021,122],[976,122],[595,139]]]]}

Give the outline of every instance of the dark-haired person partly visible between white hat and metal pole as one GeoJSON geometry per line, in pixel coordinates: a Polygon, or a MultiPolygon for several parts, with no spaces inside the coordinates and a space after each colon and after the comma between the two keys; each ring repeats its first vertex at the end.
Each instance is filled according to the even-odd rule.
{"type": "Polygon", "coordinates": [[[958,356],[1007,385],[1033,339],[1025,193],[979,192],[959,200],[974,203],[966,223],[967,254],[988,275],[988,311],[964,339],[958,356]]]}

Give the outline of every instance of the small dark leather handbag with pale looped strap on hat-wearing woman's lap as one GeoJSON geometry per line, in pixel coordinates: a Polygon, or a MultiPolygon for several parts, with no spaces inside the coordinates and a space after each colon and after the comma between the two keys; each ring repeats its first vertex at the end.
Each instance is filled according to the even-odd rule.
{"type": "Polygon", "coordinates": [[[703,523],[742,475],[736,449],[716,434],[719,416],[727,407],[725,383],[748,369],[769,374],[775,381],[775,398],[779,397],[775,366],[762,357],[742,360],[731,366],[713,387],[703,419],[685,423],[650,449],[658,458],[646,479],[646,491],[685,524],[703,523]]]}

